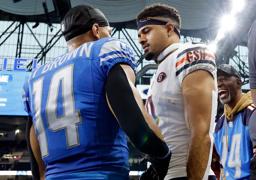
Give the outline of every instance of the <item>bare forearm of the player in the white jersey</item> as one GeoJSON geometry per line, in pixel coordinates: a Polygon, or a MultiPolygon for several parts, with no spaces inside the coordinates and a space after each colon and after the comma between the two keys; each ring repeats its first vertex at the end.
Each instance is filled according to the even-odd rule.
{"type": "MultiPolygon", "coordinates": [[[[201,180],[210,159],[211,140],[208,133],[191,133],[188,148],[187,176],[189,180],[201,180]]],[[[209,169],[208,169],[209,171],[209,169]]]]}

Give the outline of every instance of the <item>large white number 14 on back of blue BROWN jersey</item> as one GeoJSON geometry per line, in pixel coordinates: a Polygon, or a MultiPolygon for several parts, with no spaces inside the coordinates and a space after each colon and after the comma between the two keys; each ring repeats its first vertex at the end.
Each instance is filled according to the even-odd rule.
{"type": "MultiPolygon", "coordinates": [[[[47,102],[46,121],[49,130],[57,132],[65,129],[67,148],[80,145],[78,124],[82,124],[80,110],[75,110],[74,90],[73,90],[74,64],[70,64],[57,72],[51,78],[47,102]],[[62,108],[63,114],[57,115],[58,92],[62,82],[62,108]],[[71,94],[71,96],[70,96],[71,94]]],[[[41,114],[42,90],[44,77],[33,83],[35,129],[38,134],[42,158],[49,156],[46,130],[41,114]]]]}

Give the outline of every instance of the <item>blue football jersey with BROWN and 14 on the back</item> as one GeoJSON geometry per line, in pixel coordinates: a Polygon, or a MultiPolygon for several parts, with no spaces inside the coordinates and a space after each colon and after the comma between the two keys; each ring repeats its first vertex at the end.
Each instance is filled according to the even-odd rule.
{"type": "Polygon", "coordinates": [[[121,172],[128,178],[126,134],[108,107],[104,89],[118,63],[136,73],[130,47],[103,38],[36,68],[25,82],[24,108],[33,117],[47,178],[95,171],[121,172]]]}

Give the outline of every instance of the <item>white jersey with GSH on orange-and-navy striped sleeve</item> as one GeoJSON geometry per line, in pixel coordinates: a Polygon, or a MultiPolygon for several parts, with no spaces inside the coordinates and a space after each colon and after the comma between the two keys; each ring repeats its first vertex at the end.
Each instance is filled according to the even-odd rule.
{"type": "MultiPolygon", "coordinates": [[[[177,49],[159,64],[150,83],[148,98],[145,104],[146,110],[156,120],[164,140],[172,152],[165,180],[187,176],[186,161],[190,142],[190,130],[184,117],[182,81],[189,73],[202,69],[210,72],[214,78],[216,92],[213,92],[212,118],[209,132],[212,145],[214,119],[217,110],[217,70],[214,55],[201,42],[188,42],[178,45],[178,49],[171,48],[174,44],[169,46],[168,48],[172,50],[167,53],[166,50],[168,48],[164,50],[166,54],[169,54],[177,49]]],[[[175,46],[177,47],[177,44],[175,46]]],[[[206,179],[209,174],[211,154],[212,148],[205,174],[206,179]]]]}

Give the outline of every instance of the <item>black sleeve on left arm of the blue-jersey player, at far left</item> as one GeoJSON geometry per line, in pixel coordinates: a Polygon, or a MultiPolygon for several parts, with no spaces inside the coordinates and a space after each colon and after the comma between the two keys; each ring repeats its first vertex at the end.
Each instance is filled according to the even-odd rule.
{"type": "Polygon", "coordinates": [[[36,158],[34,156],[34,153],[32,151],[31,144],[30,144],[30,129],[32,127],[32,124],[33,124],[32,117],[28,116],[28,122],[26,126],[26,140],[28,145],[28,153],[30,157],[31,171],[32,171],[33,180],[40,180],[38,164],[36,162],[36,158]]]}

